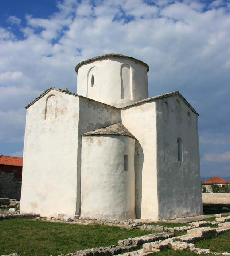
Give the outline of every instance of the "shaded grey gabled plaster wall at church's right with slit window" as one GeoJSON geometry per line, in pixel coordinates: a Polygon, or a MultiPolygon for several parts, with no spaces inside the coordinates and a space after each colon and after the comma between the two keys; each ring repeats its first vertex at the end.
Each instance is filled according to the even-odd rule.
{"type": "Polygon", "coordinates": [[[198,116],[178,95],[156,103],[159,219],[201,214],[198,116]],[[182,161],[178,160],[178,137],[182,161]]]}

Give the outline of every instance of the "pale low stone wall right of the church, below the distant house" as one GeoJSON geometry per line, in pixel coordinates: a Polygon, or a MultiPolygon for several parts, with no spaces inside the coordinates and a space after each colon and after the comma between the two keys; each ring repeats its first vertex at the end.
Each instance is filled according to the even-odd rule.
{"type": "Polygon", "coordinates": [[[230,204],[230,193],[202,193],[203,204],[230,204]]]}

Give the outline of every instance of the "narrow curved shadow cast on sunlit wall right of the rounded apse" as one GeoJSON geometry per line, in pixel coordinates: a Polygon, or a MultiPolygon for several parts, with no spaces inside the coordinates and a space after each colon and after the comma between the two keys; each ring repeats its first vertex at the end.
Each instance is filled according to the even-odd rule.
{"type": "Polygon", "coordinates": [[[135,202],[136,202],[136,218],[141,218],[141,202],[142,202],[142,168],[144,162],[144,153],[138,140],[135,142],[135,202]]]}

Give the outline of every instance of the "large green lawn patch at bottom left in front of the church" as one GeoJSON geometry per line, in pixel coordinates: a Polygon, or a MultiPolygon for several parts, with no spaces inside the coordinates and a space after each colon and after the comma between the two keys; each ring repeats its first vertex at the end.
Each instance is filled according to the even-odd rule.
{"type": "Polygon", "coordinates": [[[152,233],[100,225],[7,219],[0,221],[0,255],[56,256],[81,249],[117,245],[118,240],[152,233]]]}

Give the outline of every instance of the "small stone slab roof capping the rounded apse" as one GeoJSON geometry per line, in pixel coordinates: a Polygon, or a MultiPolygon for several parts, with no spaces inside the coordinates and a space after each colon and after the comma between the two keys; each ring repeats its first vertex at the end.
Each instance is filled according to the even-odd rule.
{"type": "Polygon", "coordinates": [[[97,136],[97,135],[124,135],[135,139],[135,137],[121,123],[112,124],[94,131],[83,133],[82,136],[97,136]]]}

